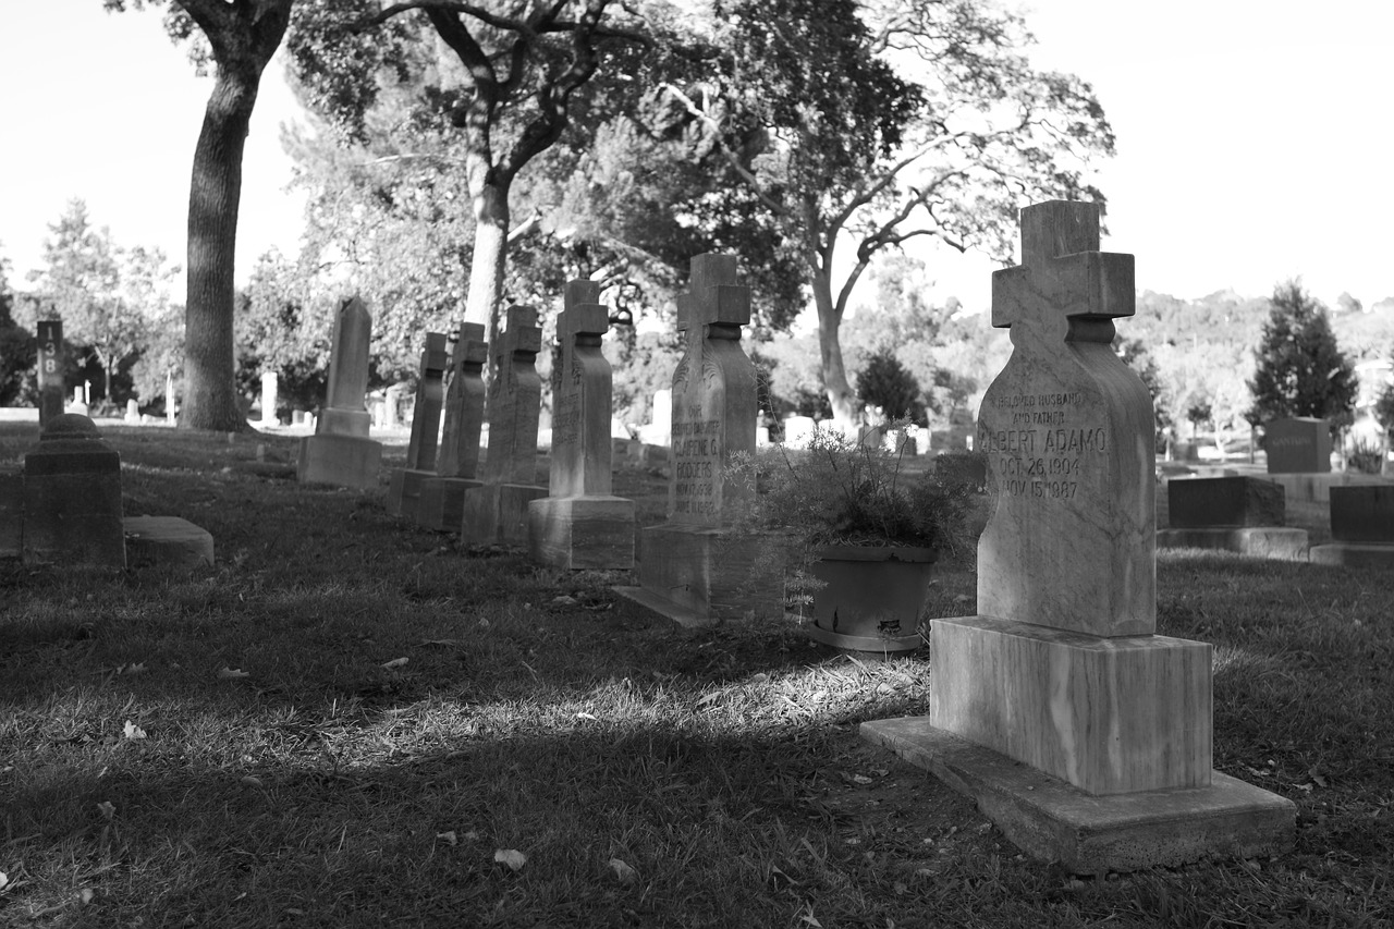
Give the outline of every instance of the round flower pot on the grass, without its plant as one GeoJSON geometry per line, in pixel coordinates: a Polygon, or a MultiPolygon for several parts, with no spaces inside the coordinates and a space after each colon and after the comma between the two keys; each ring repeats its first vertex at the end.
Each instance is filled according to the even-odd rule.
{"type": "Polygon", "coordinates": [[[921,644],[933,548],[829,545],[813,564],[824,586],[813,594],[815,642],[849,651],[910,651],[921,644]]]}

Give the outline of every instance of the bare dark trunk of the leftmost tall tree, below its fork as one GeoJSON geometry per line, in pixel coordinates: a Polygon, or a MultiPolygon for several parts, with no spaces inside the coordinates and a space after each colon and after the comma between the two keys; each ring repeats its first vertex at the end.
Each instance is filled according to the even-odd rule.
{"type": "Polygon", "coordinates": [[[181,430],[231,432],[247,428],[247,420],[237,409],[233,379],[233,271],[243,149],[259,80],[259,71],[219,66],[194,149],[194,176],[188,191],[181,430]]]}

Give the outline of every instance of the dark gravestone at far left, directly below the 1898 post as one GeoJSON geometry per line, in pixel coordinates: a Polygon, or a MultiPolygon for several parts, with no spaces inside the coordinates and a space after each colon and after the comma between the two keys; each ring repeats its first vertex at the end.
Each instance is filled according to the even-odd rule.
{"type": "Polygon", "coordinates": [[[54,416],[24,456],[26,562],[125,568],[121,456],[85,416],[54,416]]]}

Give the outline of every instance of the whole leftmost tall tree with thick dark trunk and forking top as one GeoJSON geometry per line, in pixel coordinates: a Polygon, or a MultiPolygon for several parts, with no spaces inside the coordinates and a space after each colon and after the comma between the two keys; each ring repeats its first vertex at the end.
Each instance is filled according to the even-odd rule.
{"type": "MultiPolygon", "coordinates": [[[[163,0],[103,0],[107,10],[163,0]]],[[[233,384],[233,272],[243,149],[262,71],[280,46],[294,0],[174,0],[164,28],[195,40],[202,73],[212,61],[213,92],[204,112],[188,195],[188,293],[184,303],[184,402],[180,428],[236,431],[247,420],[233,384]]]]}

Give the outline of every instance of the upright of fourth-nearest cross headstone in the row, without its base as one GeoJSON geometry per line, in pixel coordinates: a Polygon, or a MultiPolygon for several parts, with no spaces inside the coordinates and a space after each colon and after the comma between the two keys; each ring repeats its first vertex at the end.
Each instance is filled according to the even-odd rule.
{"type": "Polygon", "coordinates": [[[542,402],[537,353],[542,329],[533,307],[509,307],[507,328],[492,347],[493,384],[489,386],[489,449],[484,480],[533,484],[537,480],[537,425],[542,402]]]}

